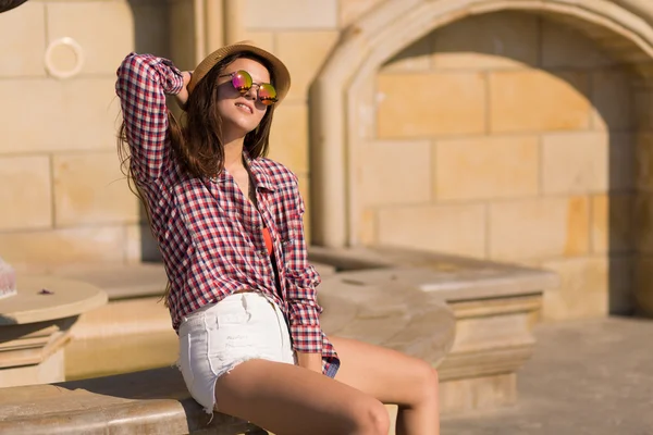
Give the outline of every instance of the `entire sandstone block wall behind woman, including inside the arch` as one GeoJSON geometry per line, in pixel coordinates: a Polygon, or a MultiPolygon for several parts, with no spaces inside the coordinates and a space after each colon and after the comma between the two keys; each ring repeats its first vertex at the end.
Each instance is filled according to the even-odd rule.
{"type": "MultiPolygon", "coordinates": [[[[308,214],[308,119],[319,104],[308,89],[343,29],[382,3],[241,3],[238,34],[276,53],[293,76],[270,157],[299,176],[308,214]]],[[[7,260],[21,268],[148,257],[147,229],[118,167],[114,73],[132,50],[193,67],[195,4],[32,0],[0,15],[7,260]],[[84,55],[70,78],[44,62],[61,37],[84,55]]],[[[61,71],[77,64],[65,44],[51,54],[61,71]]],[[[551,268],[563,276],[546,296],[551,319],[629,311],[633,269],[653,281],[642,257],[653,252],[653,232],[636,229],[653,214],[642,194],[653,185],[653,135],[642,134],[651,112],[636,102],[653,100],[632,88],[636,79],[583,35],[535,14],[504,11],[439,28],[375,77],[373,139],[356,151],[366,160],[348,186],[362,200],[350,231],[362,244],[551,268]]],[[[310,232],[309,215],[305,222],[310,232]]]]}

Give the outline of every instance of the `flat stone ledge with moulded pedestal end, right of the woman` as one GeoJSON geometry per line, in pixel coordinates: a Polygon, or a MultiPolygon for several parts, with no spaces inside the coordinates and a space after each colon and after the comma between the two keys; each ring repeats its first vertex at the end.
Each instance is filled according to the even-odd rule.
{"type": "MultiPolygon", "coordinates": [[[[352,288],[341,290],[350,295],[347,300],[369,288],[389,291],[387,307],[385,300],[377,300],[372,312],[397,307],[394,315],[401,316],[402,302],[393,298],[415,290],[427,296],[422,303],[446,302],[456,319],[455,338],[443,360],[428,359],[438,364],[442,412],[515,402],[516,373],[534,348],[531,328],[542,308],[542,294],[558,285],[554,273],[396,248],[313,248],[312,254],[345,270],[336,278],[352,288]]],[[[338,310],[342,323],[355,324],[354,309],[338,310]]],[[[385,324],[379,322],[378,330],[381,326],[385,324]]],[[[435,334],[442,330],[439,326],[435,334]]],[[[421,331],[420,336],[428,337],[421,331]]]]}

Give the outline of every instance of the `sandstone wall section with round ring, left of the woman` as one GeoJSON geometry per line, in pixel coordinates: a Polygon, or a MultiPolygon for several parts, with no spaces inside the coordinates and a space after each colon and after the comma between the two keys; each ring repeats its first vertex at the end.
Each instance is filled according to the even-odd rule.
{"type": "Polygon", "coordinates": [[[33,0],[0,15],[0,251],[16,266],[139,258],[113,91],[133,48],[123,1],[33,0]]]}

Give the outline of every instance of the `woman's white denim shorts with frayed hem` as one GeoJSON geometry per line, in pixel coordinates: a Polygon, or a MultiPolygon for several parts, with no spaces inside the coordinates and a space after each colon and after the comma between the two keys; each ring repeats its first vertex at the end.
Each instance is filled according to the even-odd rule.
{"type": "Polygon", "coordinates": [[[295,364],[285,318],[260,293],[237,293],[182,320],[177,366],[190,396],[217,410],[215,381],[251,359],[295,364]]]}

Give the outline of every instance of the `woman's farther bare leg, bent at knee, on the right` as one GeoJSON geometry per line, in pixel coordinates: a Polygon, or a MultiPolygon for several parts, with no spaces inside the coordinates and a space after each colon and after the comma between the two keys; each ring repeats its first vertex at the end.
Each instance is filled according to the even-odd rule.
{"type": "Polygon", "coordinates": [[[341,357],[335,378],[396,403],[397,435],[439,435],[438,373],[426,361],[347,338],[330,337],[341,357]]]}

